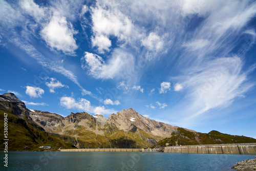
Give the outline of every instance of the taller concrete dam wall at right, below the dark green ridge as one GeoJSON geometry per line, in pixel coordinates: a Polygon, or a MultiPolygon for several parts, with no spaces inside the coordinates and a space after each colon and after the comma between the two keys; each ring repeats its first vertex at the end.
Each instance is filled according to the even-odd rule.
{"type": "Polygon", "coordinates": [[[256,154],[256,143],[167,146],[165,153],[256,154]]]}

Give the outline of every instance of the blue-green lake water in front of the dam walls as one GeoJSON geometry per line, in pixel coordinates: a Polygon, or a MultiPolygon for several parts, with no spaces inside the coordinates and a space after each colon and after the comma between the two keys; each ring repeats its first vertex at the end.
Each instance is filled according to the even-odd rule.
{"type": "Polygon", "coordinates": [[[143,152],[9,152],[1,170],[233,170],[255,155],[143,152]]]}

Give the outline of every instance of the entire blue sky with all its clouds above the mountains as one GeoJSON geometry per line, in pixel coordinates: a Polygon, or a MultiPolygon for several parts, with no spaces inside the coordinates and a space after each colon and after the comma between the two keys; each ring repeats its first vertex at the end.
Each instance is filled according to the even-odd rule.
{"type": "Polygon", "coordinates": [[[0,1],[0,93],[29,109],[256,138],[253,1],[0,1]]]}

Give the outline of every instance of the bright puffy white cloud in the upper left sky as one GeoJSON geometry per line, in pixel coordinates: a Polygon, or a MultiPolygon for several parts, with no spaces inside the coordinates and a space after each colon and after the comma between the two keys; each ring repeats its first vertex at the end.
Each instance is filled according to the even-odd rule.
{"type": "Polygon", "coordinates": [[[73,37],[77,34],[71,23],[59,14],[54,14],[50,22],[41,30],[41,36],[52,50],[56,49],[65,54],[74,55],[78,48],[73,37]]]}

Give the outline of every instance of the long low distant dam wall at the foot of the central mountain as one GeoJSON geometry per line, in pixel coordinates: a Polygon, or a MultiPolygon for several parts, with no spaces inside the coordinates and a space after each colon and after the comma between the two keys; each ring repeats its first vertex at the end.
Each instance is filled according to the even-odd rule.
{"type": "Polygon", "coordinates": [[[80,148],[59,150],[60,152],[158,152],[158,149],[144,148],[80,148]]]}

